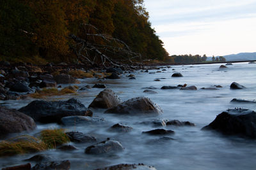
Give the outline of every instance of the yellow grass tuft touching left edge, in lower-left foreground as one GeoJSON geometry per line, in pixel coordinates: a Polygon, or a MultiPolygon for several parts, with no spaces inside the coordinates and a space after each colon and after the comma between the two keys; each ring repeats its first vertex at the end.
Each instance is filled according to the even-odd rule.
{"type": "Polygon", "coordinates": [[[0,142],[0,157],[47,150],[47,145],[33,136],[19,136],[0,142]],[[18,139],[18,140],[17,140],[18,139]]]}

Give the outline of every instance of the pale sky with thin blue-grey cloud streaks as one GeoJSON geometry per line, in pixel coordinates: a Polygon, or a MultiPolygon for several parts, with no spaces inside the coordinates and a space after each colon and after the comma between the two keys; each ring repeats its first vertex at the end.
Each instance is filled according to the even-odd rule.
{"type": "Polygon", "coordinates": [[[256,0],[144,0],[170,55],[256,52],[256,0]]]}

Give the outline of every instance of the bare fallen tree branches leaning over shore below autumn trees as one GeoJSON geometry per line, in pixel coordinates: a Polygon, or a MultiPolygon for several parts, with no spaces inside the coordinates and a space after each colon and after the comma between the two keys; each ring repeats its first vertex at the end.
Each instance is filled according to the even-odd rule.
{"type": "Polygon", "coordinates": [[[70,34],[74,45],[72,50],[77,56],[77,62],[88,64],[106,64],[111,66],[134,65],[134,60],[141,60],[140,53],[132,52],[124,41],[113,38],[108,34],[100,34],[99,30],[90,24],[83,24],[84,38],[70,34]]]}

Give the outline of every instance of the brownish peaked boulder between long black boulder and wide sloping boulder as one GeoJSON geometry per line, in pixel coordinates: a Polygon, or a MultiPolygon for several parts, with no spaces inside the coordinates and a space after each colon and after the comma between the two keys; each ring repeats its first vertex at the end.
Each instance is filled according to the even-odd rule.
{"type": "Polygon", "coordinates": [[[105,89],[101,91],[93,102],[89,105],[89,108],[112,108],[120,104],[121,101],[118,96],[115,95],[111,89],[105,89]]]}

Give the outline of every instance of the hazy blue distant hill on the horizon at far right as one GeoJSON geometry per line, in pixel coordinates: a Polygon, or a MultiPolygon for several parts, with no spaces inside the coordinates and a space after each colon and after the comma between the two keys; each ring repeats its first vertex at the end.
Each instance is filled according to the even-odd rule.
{"type": "MultiPolygon", "coordinates": [[[[219,57],[219,56],[216,56],[219,57]]],[[[256,60],[256,52],[254,53],[237,53],[230,55],[223,55],[227,61],[239,61],[239,60],[256,60]]],[[[211,60],[212,57],[207,57],[207,60],[211,60]]]]}

